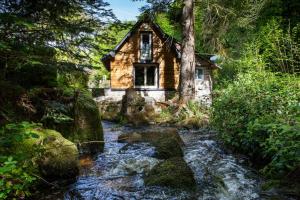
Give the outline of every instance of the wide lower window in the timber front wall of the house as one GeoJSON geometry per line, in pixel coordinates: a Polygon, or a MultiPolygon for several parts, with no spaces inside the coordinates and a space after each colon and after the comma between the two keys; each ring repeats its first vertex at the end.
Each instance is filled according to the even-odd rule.
{"type": "Polygon", "coordinates": [[[152,65],[134,67],[134,85],[137,88],[157,87],[157,67],[152,65]]]}

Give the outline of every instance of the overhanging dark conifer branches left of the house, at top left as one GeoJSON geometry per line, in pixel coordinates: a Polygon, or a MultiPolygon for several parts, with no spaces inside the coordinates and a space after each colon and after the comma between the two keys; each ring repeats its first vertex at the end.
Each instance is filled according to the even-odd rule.
{"type": "Polygon", "coordinates": [[[112,40],[104,30],[115,17],[103,1],[1,0],[0,4],[0,75],[27,88],[56,86],[56,69],[69,64],[94,66],[93,52],[103,53],[98,44],[112,40]],[[52,72],[43,73],[51,69],[54,79],[52,72]]]}

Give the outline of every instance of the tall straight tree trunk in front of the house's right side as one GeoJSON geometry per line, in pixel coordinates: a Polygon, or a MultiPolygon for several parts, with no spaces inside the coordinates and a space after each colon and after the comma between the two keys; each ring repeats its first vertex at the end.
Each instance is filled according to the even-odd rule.
{"type": "Polygon", "coordinates": [[[179,97],[183,103],[195,97],[195,35],[194,2],[184,0],[183,41],[180,68],[179,97]]]}

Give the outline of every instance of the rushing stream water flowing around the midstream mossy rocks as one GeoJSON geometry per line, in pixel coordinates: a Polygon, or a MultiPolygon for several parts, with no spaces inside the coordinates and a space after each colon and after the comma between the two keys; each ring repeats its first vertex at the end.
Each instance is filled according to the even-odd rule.
{"type": "MultiPolygon", "coordinates": [[[[160,160],[153,157],[155,148],[148,143],[118,143],[118,135],[130,131],[103,122],[104,152],[84,160],[81,175],[68,186],[61,199],[135,200],[135,199],[199,199],[252,200],[269,199],[260,191],[261,181],[255,171],[245,167],[245,159],[226,153],[201,131],[180,131],[185,143],[184,159],[194,172],[194,190],[145,186],[143,175],[160,160]]],[[[59,199],[47,196],[45,199],[59,199]]]]}

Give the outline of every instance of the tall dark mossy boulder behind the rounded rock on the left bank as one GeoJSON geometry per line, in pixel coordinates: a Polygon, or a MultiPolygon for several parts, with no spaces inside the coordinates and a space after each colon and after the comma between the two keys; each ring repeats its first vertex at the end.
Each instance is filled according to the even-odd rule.
{"type": "Polygon", "coordinates": [[[96,102],[87,91],[40,89],[35,91],[34,102],[46,128],[54,129],[74,143],[80,151],[95,154],[103,151],[103,129],[96,102]]]}

